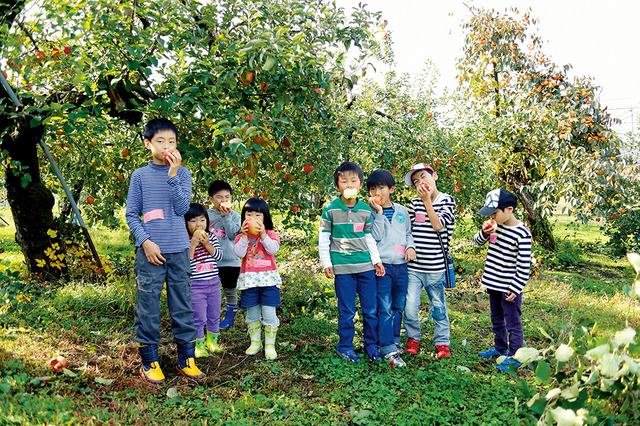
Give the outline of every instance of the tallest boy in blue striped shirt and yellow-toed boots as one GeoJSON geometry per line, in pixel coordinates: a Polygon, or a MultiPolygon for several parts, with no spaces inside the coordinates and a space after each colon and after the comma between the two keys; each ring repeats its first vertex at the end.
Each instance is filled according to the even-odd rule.
{"type": "Polygon", "coordinates": [[[142,360],[141,376],[154,384],[164,381],[158,364],[160,293],[167,283],[167,305],[173,340],[178,345],[180,374],[204,377],[195,365],[196,328],[189,283],[189,235],[184,214],[191,200],[191,174],[180,167],[175,150],[178,130],[166,119],[154,119],[144,130],[151,161],[131,175],[126,219],[136,239],[135,330],[142,360]],[[165,155],[168,165],[165,164],[165,155]],[[141,216],[142,215],[142,220],[141,216]]]}

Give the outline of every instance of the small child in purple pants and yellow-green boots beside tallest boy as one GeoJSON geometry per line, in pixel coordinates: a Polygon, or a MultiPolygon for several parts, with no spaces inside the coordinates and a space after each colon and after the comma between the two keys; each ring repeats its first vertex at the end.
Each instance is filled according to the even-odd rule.
{"type": "Polygon", "coordinates": [[[196,337],[196,358],[207,356],[207,350],[219,352],[220,335],[220,278],[216,261],[222,258],[218,239],[207,234],[209,217],[202,204],[191,203],[184,215],[187,231],[191,238],[189,259],[191,259],[191,303],[193,323],[198,331],[196,337]],[[204,324],[207,323],[207,340],[204,338],[204,324]]]}

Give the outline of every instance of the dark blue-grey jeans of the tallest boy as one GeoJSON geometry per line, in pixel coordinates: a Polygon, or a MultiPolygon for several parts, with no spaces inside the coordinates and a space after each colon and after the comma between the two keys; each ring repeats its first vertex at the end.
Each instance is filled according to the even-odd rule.
{"type": "Polygon", "coordinates": [[[144,250],[136,250],[133,270],[136,275],[135,330],[136,341],[157,345],[160,341],[160,293],[167,283],[167,306],[171,315],[173,341],[188,343],[196,339],[191,305],[189,250],[162,253],[162,265],[152,265],[144,250]]]}

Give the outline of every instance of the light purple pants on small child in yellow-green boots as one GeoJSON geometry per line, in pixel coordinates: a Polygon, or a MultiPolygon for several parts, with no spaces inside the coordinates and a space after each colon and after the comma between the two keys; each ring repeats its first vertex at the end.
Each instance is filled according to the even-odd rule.
{"type": "Polygon", "coordinates": [[[209,333],[220,333],[220,278],[191,281],[193,323],[198,339],[204,338],[204,325],[209,333]]]}

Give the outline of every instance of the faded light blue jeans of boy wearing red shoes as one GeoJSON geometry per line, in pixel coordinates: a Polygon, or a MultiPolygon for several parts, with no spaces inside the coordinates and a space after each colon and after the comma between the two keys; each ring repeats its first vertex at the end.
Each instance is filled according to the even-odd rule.
{"type": "Polygon", "coordinates": [[[409,271],[409,285],[407,287],[407,303],[404,308],[404,328],[407,338],[420,340],[420,294],[424,288],[429,296],[431,307],[429,316],[435,322],[433,341],[436,345],[449,345],[449,314],[444,295],[445,271],[417,272],[409,271]]]}

